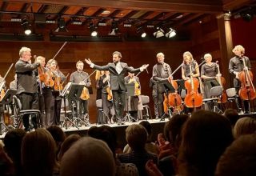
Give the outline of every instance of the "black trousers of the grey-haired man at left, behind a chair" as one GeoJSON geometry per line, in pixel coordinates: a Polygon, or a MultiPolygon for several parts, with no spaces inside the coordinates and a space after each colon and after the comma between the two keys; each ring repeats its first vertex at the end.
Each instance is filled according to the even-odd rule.
{"type": "MultiPolygon", "coordinates": [[[[22,110],[38,110],[38,93],[22,93],[18,94],[18,98],[22,103],[22,110]]],[[[34,128],[37,128],[37,117],[32,115],[31,117],[34,128]]],[[[22,117],[23,126],[25,130],[29,130],[30,127],[30,114],[24,114],[22,117]]]]}

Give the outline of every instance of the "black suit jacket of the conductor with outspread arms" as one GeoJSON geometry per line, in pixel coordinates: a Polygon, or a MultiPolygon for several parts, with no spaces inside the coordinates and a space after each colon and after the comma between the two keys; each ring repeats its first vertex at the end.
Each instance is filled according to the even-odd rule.
{"type": "Polygon", "coordinates": [[[96,70],[109,70],[110,71],[110,86],[111,86],[111,90],[119,90],[119,88],[121,90],[126,90],[126,85],[125,85],[125,75],[130,72],[130,73],[135,73],[135,72],[139,72],[140,68],[138,69],[134,69],[131,66],[128,66],[126,63],[124,62],[120,62],[121,66],[122,66],[122,71],[120,74],[118,74],[118,72],[115,70],[115,64],[112,63],[108,63],[106,66],[97,66],[94,65],[94,69],[96,70]]]}

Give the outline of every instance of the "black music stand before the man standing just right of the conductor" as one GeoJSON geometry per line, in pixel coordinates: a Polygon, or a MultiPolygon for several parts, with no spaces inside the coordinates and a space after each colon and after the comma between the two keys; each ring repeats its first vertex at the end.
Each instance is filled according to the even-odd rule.
{"type": "MultiPolygon", "coordinates": [[[[169,103],[169,99],[168,99],[168,94],[169,93],[174,93],[175,89],[174,87],[170,84],[168,79],[162,80],[162,81],[158,81],[158,94],[163,94],[166,93],[166,98],[167,98],[167,102],[169,103]]],[[[160,118],[160,121],[165,121],[165,117],[166,114],[169,115],[169,117],[172,116],[172,111],[170,110],[170,106],[168,105],[168,110],[167,112],[165,112],[162,117],[160,118]]]]}

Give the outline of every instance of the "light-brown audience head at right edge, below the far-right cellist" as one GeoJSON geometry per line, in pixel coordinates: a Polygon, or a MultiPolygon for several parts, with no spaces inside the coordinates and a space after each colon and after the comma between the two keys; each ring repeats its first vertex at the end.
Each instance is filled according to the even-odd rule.
{"type": "Polygon", "coordinates": [[[244,134],[254,134],[256,131],[256,120],[254,118],[240,118],[234,126],[234,138],[244,134]]]}

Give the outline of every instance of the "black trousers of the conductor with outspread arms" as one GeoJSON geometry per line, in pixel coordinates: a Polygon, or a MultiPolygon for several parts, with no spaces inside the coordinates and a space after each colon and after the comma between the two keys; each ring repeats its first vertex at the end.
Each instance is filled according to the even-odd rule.
{"type": "Polygon", "coordinates": [[[118,120],[123,120],[123,111],[126,105],[126,91],[125,90],[112,90],[114,111],[118,120]]]}

